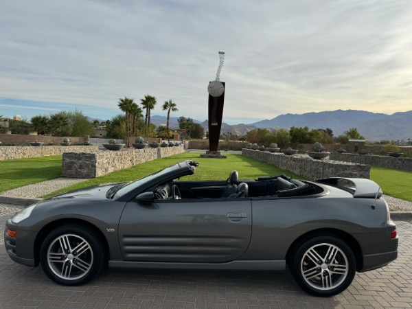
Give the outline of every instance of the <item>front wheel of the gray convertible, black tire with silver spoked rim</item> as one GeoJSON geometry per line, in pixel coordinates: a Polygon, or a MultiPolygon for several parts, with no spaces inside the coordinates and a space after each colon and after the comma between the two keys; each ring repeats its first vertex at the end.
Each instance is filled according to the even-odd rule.
{"type": "Polygon", "coordinates": [[[62,225],[54,229],[41,244],[43,271],[64,286],[89,282],[104,266],[106,255],[99,241],[93,230],[80,225],[62,225]]]}

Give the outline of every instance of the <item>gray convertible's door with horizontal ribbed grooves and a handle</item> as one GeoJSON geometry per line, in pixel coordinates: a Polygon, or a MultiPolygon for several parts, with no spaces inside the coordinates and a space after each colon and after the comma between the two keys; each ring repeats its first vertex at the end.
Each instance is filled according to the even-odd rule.
{"type": "Polygon", "coordinates": [[[249,198],[130,201],[119,222],[126,261],[228,262],[251,239],[249,198]]]}

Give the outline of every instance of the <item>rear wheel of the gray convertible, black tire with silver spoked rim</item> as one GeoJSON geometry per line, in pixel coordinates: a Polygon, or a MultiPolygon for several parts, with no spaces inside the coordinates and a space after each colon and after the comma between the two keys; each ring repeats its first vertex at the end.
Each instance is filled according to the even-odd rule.
{"type": "Polygon", "coordinates": [[[343,240],[332,235],[313,236],[301,242],[288,262],[297,284],[321,297],[342,293],[356,272],[354,253],[343,240]]]}

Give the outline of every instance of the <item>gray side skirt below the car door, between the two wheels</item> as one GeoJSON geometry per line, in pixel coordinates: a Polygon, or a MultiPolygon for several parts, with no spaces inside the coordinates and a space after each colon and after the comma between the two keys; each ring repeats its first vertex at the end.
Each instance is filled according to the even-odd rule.
{"type": "Polygon", "coordinates": [[[108,261],[113,268],[226,269],[238,271],[285,271],[286,260],[249,260],[226,263],[108,261]]]}

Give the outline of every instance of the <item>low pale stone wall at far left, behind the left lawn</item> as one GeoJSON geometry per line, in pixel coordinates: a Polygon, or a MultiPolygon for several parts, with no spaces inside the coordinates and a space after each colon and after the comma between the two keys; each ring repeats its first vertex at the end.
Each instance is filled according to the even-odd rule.
{"type": "Polygon", "coordinates": [[[64,152],[96,151],[98,146],[4,146],[0,147],[0,161],[62,155],[64,152]]]}

